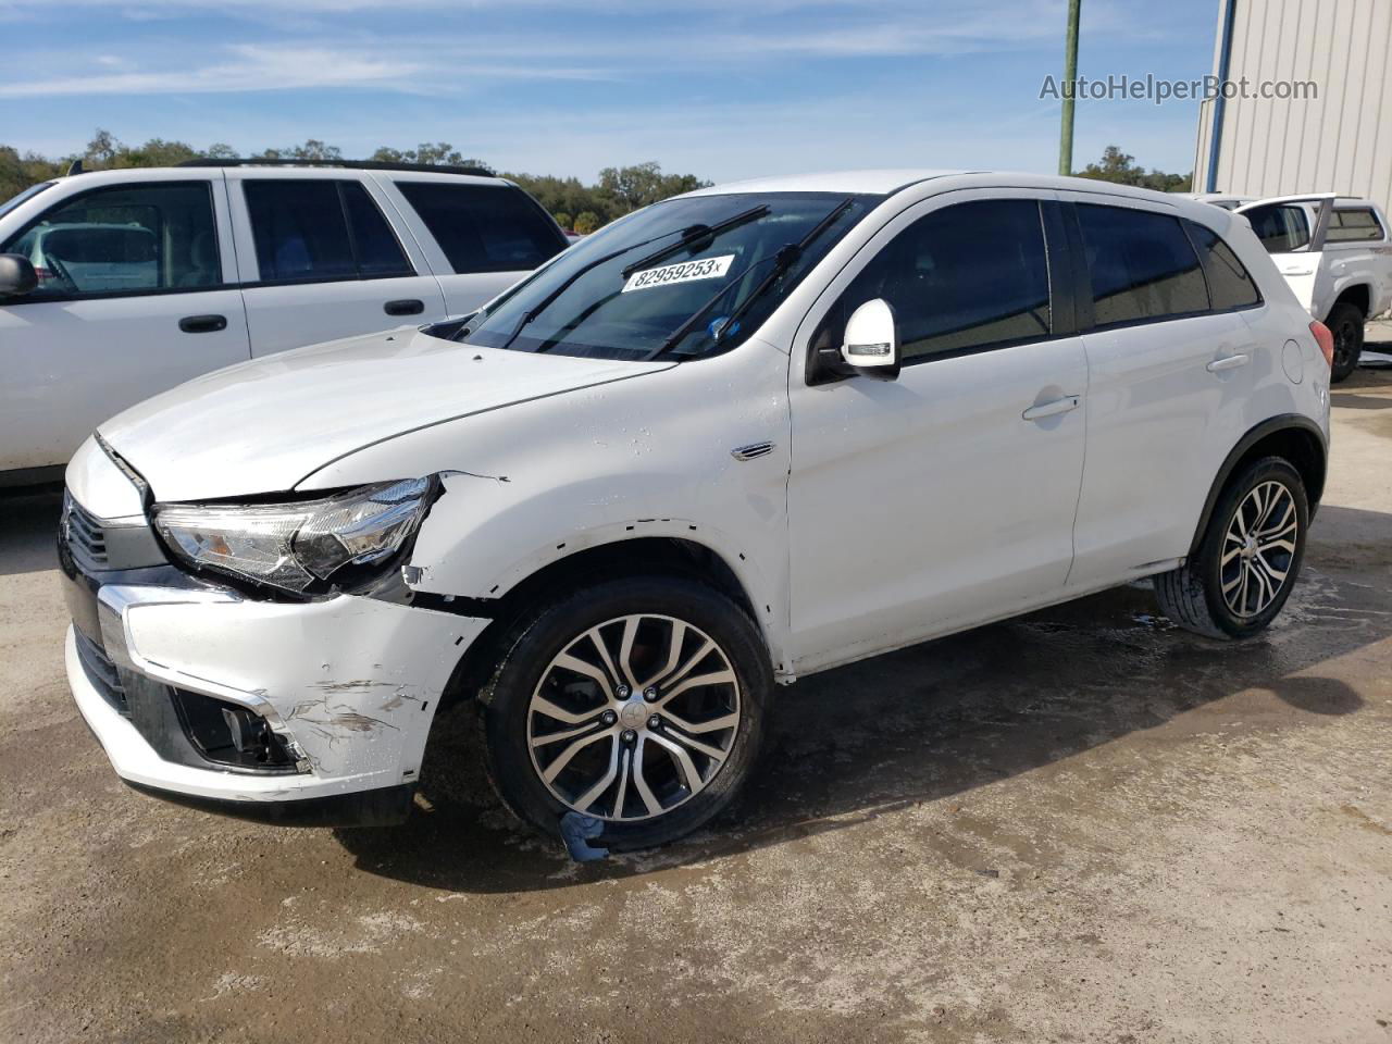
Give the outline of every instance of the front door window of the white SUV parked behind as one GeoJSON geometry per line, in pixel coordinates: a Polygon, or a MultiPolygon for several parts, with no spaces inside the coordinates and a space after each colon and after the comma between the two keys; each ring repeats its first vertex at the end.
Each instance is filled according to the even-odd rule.
{"type": "Polygon", "coordinates": [[[216,287],[223,281],[207,181],[93,189],[0,244],[39,276],[31,299],[216,287]]]}

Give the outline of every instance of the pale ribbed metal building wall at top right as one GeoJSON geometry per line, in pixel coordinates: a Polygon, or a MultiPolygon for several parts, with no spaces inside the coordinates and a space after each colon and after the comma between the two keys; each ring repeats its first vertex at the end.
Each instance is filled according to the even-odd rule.
{"type": "Polygon", "coordinates": [[[1313,79],[1314,100],[1232,97],[1200,106],[1194,189],[1275,196],[1339,192],[1392,212],[1392,0],[1218,0],[1214,74],[1232,10],[1228,78],[1313,79]]]}

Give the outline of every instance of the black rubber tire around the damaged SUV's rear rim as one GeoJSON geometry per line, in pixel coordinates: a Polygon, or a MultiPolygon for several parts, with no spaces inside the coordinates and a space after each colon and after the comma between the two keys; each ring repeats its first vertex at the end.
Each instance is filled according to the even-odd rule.
{"type": "MultiPolygon", "coordinates": [[[[1264,631],[1286,604],[1290,589],[1300,575],[1308,523],[1310,501],[1300,473],[1281,457],[1264,457],[1251,462],[1228,483],[1222,496],[1218,497],[1218,503],[1214,504],[1214,512],[1208,519],[1208,528],[1199,544],[1199,551],[1178,569],[1153,578],[1161,611],[1186,631],[1208,638],[1251,638],[1264,631]],[[1278,483],[1290,497],[1296,521],[1295,550],[1271,553],[1274,560],[1279,557],[1279,562],[1285,565],[1285,576],[1270,603],[1260,611],[1243,615],[1229,606],[1224,594],[1224,578],[1225,571],[1231,578],[1233,568],[1239,571],[1244,568],[1244,555],[1240,551],[1236,554],[1236,567],[1232,565],[1233,560],[1225,565],[1222,557],[1225,548],[1232,551],[1236,547],[1229,540],[1229,528],[1233,525],[1239,508],[1247,512],[1244,518],[1250,518],[1249,497],[1258,487],[1265,487],[1267,483],[1278,483]]],[[[1243,597],[1246,597],[1246,589],[1242,590],[1243,597]]],[[[1260,592],[1253,603],[1254,606],[1260,604],[1260,592]]]]}

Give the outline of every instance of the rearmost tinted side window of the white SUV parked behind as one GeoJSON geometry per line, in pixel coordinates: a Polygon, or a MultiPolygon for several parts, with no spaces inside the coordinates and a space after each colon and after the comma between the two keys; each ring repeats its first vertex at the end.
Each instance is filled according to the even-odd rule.
{"type": "Polygon", "coordinates": [[[505,185],[398,181],[457,273],[526,271],[565,249],[565,237],[505,185]]]}

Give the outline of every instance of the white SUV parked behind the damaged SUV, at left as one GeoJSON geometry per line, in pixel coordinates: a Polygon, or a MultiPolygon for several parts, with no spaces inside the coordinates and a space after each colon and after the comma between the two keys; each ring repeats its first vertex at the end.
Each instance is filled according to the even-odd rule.
{"type": "Polygon", "coordinates": [[[0,484],[189,377],[469,312],[567,245],[468,168],[206,161],[35,185],[0,205],[0,484]]]}

